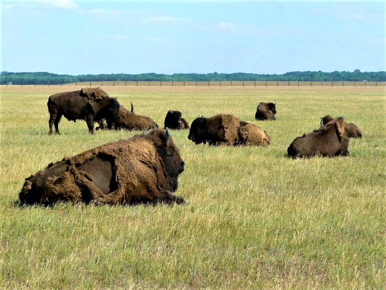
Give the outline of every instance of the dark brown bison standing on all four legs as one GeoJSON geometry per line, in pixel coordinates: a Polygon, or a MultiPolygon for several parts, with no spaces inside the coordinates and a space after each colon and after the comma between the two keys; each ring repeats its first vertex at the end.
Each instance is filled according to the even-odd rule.
{"type": "Polygon", "coordinates": [[[88,133],[94,134],[94,121],[117,118],[119,102],[97,87],[53,94],[49,96],[47,106],[49,135],[52,134],[52,125],[55,125],[55,133],[60,134],[58,125],[62,116],[74,122],[86,120],[88,133]]]}

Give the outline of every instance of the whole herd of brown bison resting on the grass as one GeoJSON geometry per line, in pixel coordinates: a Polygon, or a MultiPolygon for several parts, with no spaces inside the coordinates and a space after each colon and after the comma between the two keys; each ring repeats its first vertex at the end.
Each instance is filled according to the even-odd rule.
{"type": "MultiPolygon", "coordinates": [[[[266,146],[271,142],[266,131],[234,115],[199,116],[191,125],[180,111],[169,110],[164,129],[147,116],[121,106],[100,88],[83,88],[49,97],[49,134],[52,125],[59,133],[62,116],[70,121],[85,120],[88,131],[126,129],[144,130],[132,138],[110,142],[72,157],[51,163],[25,179],[19,193],[21,204],[52,205],[58,201],[137,204],[184,203],[174,195],[178,176],[185,163],[179,148],[170,136],[170,129],[189,129],[188,139],[196,144],[266,146]]],[[[276,103],[261,102],[255,114],[257,120],[276,120],[276,103]]],[[[298,136],[287,149],[289,157],[333,157],[349,155],[349,138],[362,138],[362,132],[342,117],[321,118],[320,128],[298,136]]]]}

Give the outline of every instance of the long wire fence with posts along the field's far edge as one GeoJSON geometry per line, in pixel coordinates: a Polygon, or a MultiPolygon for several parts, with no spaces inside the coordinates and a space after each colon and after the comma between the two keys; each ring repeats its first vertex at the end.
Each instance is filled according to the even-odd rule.
{"type": "MultiPolygon", "coordinates": [[[[25,85],[12,84],[8,85],[25,85]]],[[[37,84],[36,85],[50,85],[37,84]]],[[[103,87],[103,86],[147,86],[147,87],[378,87],[386,86],[386,82],[323,82],[323,81],[100,81],[100,82],[75,82],[70,84],[59,84],[61,86],[80,86],[80,87],[103,87]]],[[[56,84],[56,86],[58,86],[56,84]]]]}

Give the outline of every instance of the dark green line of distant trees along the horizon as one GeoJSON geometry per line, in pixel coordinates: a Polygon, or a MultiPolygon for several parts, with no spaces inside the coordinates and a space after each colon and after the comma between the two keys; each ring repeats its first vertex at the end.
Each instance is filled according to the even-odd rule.
{"type": "Polygon", "coordinates": [[[100,75],[57,75],[47,72],[1,72],[0,84],[14,85],[33,85],[33,84],[69,84],[75,82],[102,82],[102,81],[334,81],[334,82],[352,82],[363,81],[385,82],[386,72],[288,72],[282,75],[264,75],[257,73],[173,73],[173,75],[164,75],[159,73],[111,73],[100,75]]]}

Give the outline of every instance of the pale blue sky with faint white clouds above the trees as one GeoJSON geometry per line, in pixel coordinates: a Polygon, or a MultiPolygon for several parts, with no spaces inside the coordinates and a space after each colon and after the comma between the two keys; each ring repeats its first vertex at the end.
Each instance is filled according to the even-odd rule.
{"type": "Polygon", "coordinates": [[[384,1],[1,1],[1,71],[385,71],[384,1]]]}

